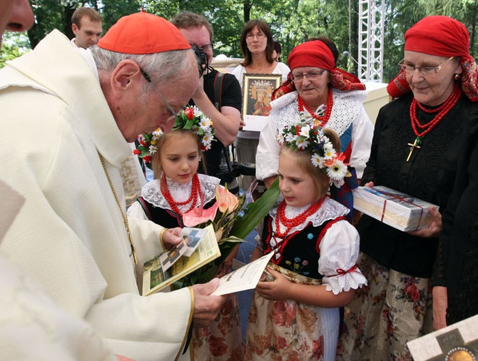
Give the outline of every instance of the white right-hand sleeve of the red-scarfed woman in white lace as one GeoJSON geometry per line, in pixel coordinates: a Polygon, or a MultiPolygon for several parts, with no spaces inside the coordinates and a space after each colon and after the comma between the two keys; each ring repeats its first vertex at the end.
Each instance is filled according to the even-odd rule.
{"type": "Polygon", "coordinates": [[[370,157],[372,147],[373,124],[363,106],[360,107],[360,114],[353,124],[352,131],[352,154],[350,155],[350,166],[357,171],[357,178],[362,178],[363,171],[370,157]]]}

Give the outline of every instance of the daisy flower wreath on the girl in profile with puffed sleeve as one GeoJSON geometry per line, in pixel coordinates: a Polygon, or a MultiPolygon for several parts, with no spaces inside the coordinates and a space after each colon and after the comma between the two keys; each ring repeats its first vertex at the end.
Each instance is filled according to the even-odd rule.
{"type": "Polygon", "coordinates": [[[344,178],[350,176],[343,153],[337,154],[332,142],[320,126],[311,126],[300,122],[295,126],[285,126],[278,136],[279,143],[293,151],[306,151],[312,156],[312,165],[324,171],[330,178],[330,184],[340,188],[344,178]]]}

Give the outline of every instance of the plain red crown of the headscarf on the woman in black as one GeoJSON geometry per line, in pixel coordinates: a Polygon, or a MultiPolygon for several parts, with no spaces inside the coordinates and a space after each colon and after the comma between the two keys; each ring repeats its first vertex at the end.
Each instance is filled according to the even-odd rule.
{"type": "Polygon", "coordinates": [[[434,56],[467,56],[468,30],[448,16],[426,16],[405,33],[405,50],[434,56]]]}

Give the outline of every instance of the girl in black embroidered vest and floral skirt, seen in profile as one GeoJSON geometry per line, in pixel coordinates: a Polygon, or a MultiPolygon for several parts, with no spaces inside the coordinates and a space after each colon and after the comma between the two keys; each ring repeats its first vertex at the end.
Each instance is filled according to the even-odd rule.
{"type": "Polygon", "coordinates": [[[273,252],[255,288],[245,360],[335,360],[339,307],[367,284],[355,264],[357,230],[345,206],[327,197],[347,166],[327,135],[306,123],[286,127],[280,141],[279,187],[284,199],[265,218],[251,260],[273,252]]]}

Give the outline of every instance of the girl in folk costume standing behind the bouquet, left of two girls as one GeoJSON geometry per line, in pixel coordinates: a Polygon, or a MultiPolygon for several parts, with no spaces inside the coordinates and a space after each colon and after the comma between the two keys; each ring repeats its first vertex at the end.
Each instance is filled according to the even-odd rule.
{"type": "MultiPolygon", "coordinates": [[[[213,205],[220,180],[197,173],[201,151],[210,146],[212,137],[210,120],[197,108],[186,108],[171,133],[155,132],[146,136],[146,143],[141,140],[152,153],[151,158],[143,153],[143,160],[151,159],[155,179],[144,185],[128,215],[175,228],[184,226],[184,213],[201,204],[204,208],[213,205]]],[[[193,329],[190,345],[190,359],[194,361],[242,360],[237,295],[230,295],[213,325],[193,329]]]]}

